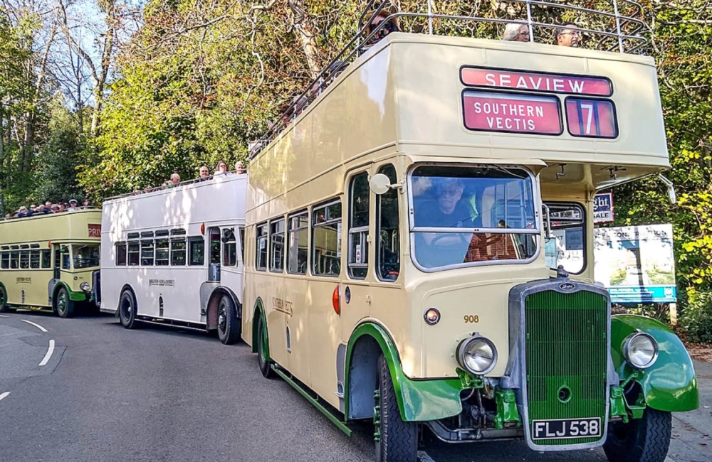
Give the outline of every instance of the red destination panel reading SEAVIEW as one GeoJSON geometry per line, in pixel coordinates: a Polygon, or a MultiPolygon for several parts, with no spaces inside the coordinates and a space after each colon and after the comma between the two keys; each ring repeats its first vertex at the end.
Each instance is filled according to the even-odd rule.
{"type": "Polygon", "coordinates": [[[495,87],[532,92],[611,96],[613,85],[605,77],[518,72],[491,68],[460,69],[460,79],[470,87],[495,87]]]}

